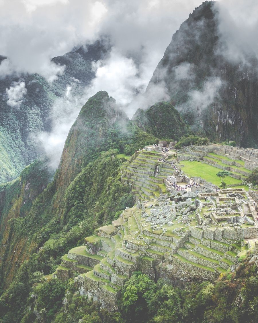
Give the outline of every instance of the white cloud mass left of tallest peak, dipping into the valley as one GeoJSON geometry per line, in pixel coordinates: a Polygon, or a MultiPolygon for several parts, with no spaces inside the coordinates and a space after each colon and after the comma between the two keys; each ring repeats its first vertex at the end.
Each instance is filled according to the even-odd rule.
{"type": "MultiPolygon", "coordinates": [[[[98,90],[107,90],[130,117],[169,98],[164,84],[150,85],[147,95],[145,89],[172,35],[199,5],[200,0],[0,0],[0,54],[8,57],[1,76],[39,73],[53,81],[65,67],[52,57],[101,38],[112,48],[92,64],[96,77],[81,96],[73,91],[80,81],[71,79],[66,95],[54,102],[53,129],[38,138],[53,167],[81,106],[98,90]]],[[[179,67],[177,77],[184,78],[187,69],[179,67]]]]}

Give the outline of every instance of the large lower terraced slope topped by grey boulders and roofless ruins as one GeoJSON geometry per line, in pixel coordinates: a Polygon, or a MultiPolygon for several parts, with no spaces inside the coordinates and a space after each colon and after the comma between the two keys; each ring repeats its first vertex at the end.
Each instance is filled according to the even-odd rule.
{"type": "Polygon", "coordinates": [[[234,270],[238,258],[254,248],[249,238],[258,237],[257,224],[229,222],[241,212],[233,210],[239,199],[228,194],[243,197],[249,209],[243,209],[240,216],[252,221],[248,194],[241,189],[198,195],[183,191],[178,202],[161,195],[152,201],[153,208],[150,201],[138,202],[111,225],[85,238],[85,245],[63,256],[53,276],[62,280],[75,277],[81,295],[109,310],[116,308],[121,288],[136,270],[155,281],[159,277],[214,281],[227,270],[234,270]],[[212,214],[225,220],[214,219],[212,214]]]}

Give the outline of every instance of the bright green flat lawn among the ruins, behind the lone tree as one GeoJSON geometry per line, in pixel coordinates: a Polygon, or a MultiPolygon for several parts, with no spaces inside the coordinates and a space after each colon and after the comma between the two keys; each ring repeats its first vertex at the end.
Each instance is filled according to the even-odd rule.
{"type": "MultiPolygon", "coordinates": [[[[181,163],[184,165],[184,167],[182,167],[183,172],[189,177],[198,176],[205,179],[207,182],[220,186],[221,180],[216,174],[222,170],[199,161],[182,161],[181,163]]],[[[234,184],[242,183],[242,181],[230,176],[226,177],[224,182],[227,185],[232,185],[232,187],[234,184]]],[[[237,188],[244,188],[248,191],[248,187],[244,185],[237,186],[237,188]]]]}

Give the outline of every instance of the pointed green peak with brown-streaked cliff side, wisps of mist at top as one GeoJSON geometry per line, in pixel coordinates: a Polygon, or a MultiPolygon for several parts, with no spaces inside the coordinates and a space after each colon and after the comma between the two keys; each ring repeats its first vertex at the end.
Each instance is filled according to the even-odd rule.
{"type": "Polygon", "coordinates": [[[62,152],[57,177],[59,198],[81,168],[93,161],[100,151],[108,149],[114,125],[120,127],[127,121],[126,115],[105,91],[96,93],[85,103],[70,129],[62,152]]]}

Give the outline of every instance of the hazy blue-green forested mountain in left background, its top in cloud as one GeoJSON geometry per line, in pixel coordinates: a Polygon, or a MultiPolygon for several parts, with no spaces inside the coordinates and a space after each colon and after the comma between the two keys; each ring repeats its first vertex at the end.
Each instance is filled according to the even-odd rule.
{"type": "MultiPolygon", "coordinates": [[[[8,75],[0,79],[0,182],[17,177],[42,155],[38,135],[53,127],[53,104],[57,99],[81,95],[94,78],[91,62],[105,55],[101,42],[80,47],[52,61],[65,65],[59,78],[48,82],[38,74],[8,75]]],[[[0,56],[0,62],[6,57],[0,56]]],[[[65,112],[60,112],[65,113],[65,112]]]]}

